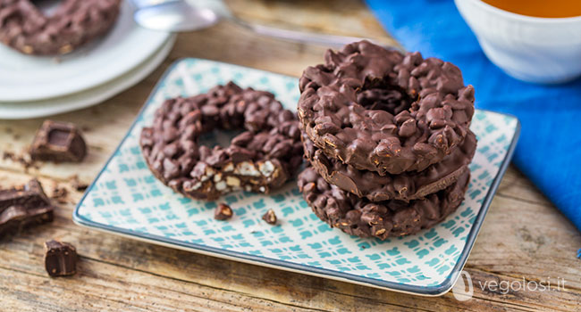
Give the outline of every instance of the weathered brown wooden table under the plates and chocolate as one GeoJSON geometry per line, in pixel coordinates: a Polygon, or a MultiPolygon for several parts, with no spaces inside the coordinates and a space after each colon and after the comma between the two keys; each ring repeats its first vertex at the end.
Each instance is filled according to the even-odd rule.
{"type": "MultiPolygon", "coordinates": [[[[241,18],[293,29],[391,39],[358,1],[232,0],[241,18]]],[[[39,177],[47,192],[68,190],[55,222],[0,242],[1,311],[454,311],[580,310],[581,236],[517,169],[509,168],[466,271],[474,297],[455,300],[451,293],[422,298],[341,283],[324,278],[215,259],[181,250],[102,234],[72,223],[81,192],[70,177],[89,183],[114,151],[168,65],[194,56],[299,76],[322,62],[324,47],[299,45],[223,22],[212,29],[181,34],[159,69],[139,85],[98,106],[55,116],[83,128],[90,154],[81,165],[41,164],[23,168],[0,160],[0,185],[18,185],[39,177]],[[79,273],[49,278],[42,266],[43,242],[60,238],[77,246],[79,273]],[[551,291],[493,291],[490,281],[566,280],[551,291]]],[[[25,154],[43,119],[0,121],[0,151],[25,154]]],[[[559,187],[559,181],[555,181],[559,187]]]]}

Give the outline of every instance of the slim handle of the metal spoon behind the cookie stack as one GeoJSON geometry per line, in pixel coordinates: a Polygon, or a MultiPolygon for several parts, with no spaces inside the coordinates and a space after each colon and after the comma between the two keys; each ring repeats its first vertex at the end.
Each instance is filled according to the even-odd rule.
{"type": "Polygon", "coordinates": [[[343,45],[350,44],[355,41],[360,40],[368,40],[370,42],[375,43],[376,45],[383,45],[388,48],[400,50],[403,52],[403,49],[397,45],[396,43],[392,43],[392,45],[386,45],[384,42],[377,42],[374,39],[364,38],[364,37],[349,37],[349,36],[337,36],[337,35],[327,35],[327,34],[320,34],[314,32],[305,32],[305,31],[295,31],[289,29],[277,29],[273,27],[267,27],[264,25],[252,24],[246,21],[241,21],[235,17],[231,18],[232,21],[236,22],[240,26],[250,29],[256,32],[259,35],[269,36],[269,37],[277,37],[284,40],[290,40],[305,44],[317,44],[317,45],[326,45],[330,47],[341,47],[343,45]]]}

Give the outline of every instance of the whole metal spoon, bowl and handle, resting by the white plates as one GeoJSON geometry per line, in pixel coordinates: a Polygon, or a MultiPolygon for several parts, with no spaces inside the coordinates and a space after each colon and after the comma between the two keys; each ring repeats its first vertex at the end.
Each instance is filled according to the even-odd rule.
{"type": "MultiPolygon", "coordinates": [[[[342,46],[354,41],[366,39],[362,37],[336,36],[277,29],[251,24],[238,19],[222,1],[216,0],[198,0],[195,4],[184,0],[133,0],[133,3],[137,5],[137,10],[134,13],[135,21],[147,29],[193,31],[206,29],[222,19],[227,19],[259,35],[277,37],[300,43],[342,46]]],[[[371,39],[367,40],[374,42],[371,39]]],[[[377,44],[384,45],[383,43],[377,44]]],[[[400,49],[396,46],[389,47],[400,49]]]]}

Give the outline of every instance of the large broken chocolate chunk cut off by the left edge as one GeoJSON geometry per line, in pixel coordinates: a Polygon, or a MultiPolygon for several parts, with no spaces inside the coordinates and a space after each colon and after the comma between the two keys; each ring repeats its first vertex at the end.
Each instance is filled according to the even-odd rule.
{"type": "Polygon", "coordinates": [[[52,222],[54,207],[37,180],[21,188],[0,190],[0,238],[25,227],[52,222]]]}

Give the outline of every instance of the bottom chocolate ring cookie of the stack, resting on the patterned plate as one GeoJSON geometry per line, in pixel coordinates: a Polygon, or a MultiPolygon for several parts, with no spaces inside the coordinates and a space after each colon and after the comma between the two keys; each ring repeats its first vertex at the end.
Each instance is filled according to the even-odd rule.
{"type": "Polygon", "coordinates": [[[299,175],[299,190],[316,216],[332,227],[360,237],[385,240],[416,234],[454,212],[464,200],[469,171],[440,192],[417,201],[368,201],[329,185],[314,168],[299,175]]]}

